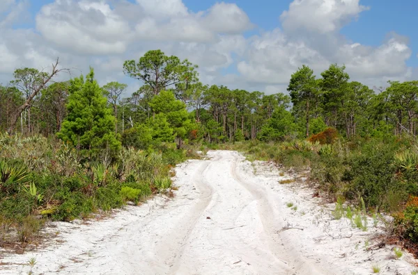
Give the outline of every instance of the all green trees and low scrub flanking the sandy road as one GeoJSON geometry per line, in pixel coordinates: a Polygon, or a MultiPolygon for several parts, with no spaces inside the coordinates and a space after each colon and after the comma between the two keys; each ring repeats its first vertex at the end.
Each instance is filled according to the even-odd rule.
{"type": "Polygon", "coordinates": [[[206,149],[306,172],[322,197],[353,206],[336,218],[365,228],[366,212],[390,213],[394,234],[418,242],[418,81],[372,90],[343,66],[320,78],[302,66],[289,95],[229,90],[156,50],[123,64],[143,84],[128,94],[93,69],[53,82],[57,67],[17,69],[0,86],[0,245],[33,242],[48,219],[173,194],[171,168],[206,149]]]}

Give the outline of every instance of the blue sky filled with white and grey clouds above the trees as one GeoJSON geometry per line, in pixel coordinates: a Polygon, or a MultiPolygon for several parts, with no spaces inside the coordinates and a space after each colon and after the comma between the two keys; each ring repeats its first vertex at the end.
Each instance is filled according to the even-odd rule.
{"type": "Polygon", "coordinates": [[[418,78],[416,0],[0,0],[0,83],[20,67],[71,73],[91,66],[101,85],[141,83],[125,60],[146,51],[187,58],[204,84],[286,93],[298,67],[317,76],[345,65],[369,87],[418,78]]]}

